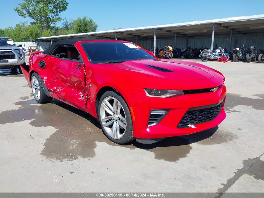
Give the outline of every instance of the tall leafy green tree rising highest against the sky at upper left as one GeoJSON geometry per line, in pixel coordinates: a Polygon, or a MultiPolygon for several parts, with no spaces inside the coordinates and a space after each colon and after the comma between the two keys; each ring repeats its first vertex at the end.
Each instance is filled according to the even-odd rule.
{"type": "Polygon", "coordinates": [[[68,6],[66,0],[24,0],[14,8],[17,14],[23,18],[32,18],[45,30],[49,30],[52,24],[61,21],[59,14],[68,6]]]}

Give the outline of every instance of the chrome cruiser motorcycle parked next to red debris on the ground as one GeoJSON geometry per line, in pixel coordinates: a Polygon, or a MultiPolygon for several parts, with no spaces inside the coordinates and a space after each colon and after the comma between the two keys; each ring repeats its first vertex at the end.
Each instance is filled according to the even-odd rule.
{"type": "Polygon", "coordinates": [[[204,49],[203,51],[201,50],[200,57],[202,61],[212,61],[220,58],[229,60],[229,54],[224,51],[221,47],[218,47],[216,50],[204,49]]]}

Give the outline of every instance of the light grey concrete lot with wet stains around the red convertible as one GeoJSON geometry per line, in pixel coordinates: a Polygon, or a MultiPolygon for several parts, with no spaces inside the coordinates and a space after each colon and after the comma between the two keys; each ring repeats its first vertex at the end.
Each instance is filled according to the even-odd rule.
{"type": "Polygon", "coordinates": [[[0,192],[264,192],[264,64],[203,64],[226,77],[227,118],[153,145],[116,145],[92,116],[37,104],[23,75],[1,70],[0,192]]]}

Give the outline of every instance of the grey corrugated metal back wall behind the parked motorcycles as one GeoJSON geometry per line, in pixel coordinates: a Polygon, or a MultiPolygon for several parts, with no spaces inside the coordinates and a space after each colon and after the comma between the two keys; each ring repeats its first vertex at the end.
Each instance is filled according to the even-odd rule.
{"type": "MultiPolygon", "coordinates": [[[[231,51],[229,48],[229,35],[223,36],[215,36],[214,38],[214,46],[217,44],[219,47],[227,48],[228,51],[231,51]]],[[[132,42],[136,42],[136,40],[131,40],[132,42]]],[[[193,37],[193,38],[177,38],[176,39],[176,47],[177,48],[186,48],[187,46],[191,46],[192,48],[210,48],[211,47],[212,37],[193,37]]],[[[149,50],[154,46],[154,40],[138,40],[137,44],[142,46],[143,48],[149,50]]],[[[164,48],[167,45],[172,45],[175,47],[175,40],[174,38],[158,38],[156,40],[156,46],[159,48],[164,48]]],[[[248,34],[247,36],[244,35],[233,35],[231,48],[237,46],[245,45],[247,48],[250,46],[254,46],[255,48],[264,48],[264,34],[248,34]]],[[[258,51],[259,53],[259,51],[258,51]]]]}

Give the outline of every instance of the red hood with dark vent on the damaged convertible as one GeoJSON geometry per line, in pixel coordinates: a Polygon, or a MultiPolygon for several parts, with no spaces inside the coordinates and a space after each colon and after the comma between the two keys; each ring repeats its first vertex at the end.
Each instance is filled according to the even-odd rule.
{"type": "Polygon", "coordinates": [[[209,67],[188,61],[175,60],[133,60],[118,63],[120,69],[133,70],[159,79],[204,80],[214,77],[215,71],[209,67]],[[161,68],[161,69],[159,69],[161,68]],[[161,71],[164,70],[165,71],[161,71]]]}

